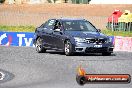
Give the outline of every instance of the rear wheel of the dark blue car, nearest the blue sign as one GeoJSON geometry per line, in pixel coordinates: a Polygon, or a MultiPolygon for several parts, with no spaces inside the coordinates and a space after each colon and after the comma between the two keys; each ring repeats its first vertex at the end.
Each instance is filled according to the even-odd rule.
{"type": "Polygon", "coordinates": [[[36,41],[36,44],[35,44],[36,51],[38,53],[45,53],[46,52],[46,49],[43,47],[42,43],[43,43],[43,40],[39,37],[36,41]]]}

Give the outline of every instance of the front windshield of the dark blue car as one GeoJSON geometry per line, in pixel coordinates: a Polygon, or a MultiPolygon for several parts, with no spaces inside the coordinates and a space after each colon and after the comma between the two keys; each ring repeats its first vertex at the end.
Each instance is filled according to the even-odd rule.
{"type": "Polygon", "coordinates": [[[84,20],[63,21],[63,27],[65,31],[97,32],[97,29],[90,22],[84,20]]]}

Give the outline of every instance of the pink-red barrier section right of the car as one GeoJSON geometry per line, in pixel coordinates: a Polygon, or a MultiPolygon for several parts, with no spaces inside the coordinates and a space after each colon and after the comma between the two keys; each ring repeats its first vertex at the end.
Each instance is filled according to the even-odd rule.
{"type": "Polygon", "coordinates": [[[114,51],[128,51],[132,52],[132,37],[115,37],[114,51]]]}

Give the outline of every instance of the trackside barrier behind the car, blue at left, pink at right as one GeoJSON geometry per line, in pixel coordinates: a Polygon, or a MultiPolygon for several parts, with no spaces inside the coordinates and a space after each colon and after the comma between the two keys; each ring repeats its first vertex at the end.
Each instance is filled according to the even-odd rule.
{"type": "MultiPolygon", "coordinates": [[[[33,46],[34,33],[29,32],[0,32],[0,45],[33,46]]],[[[132,37],[110,36],[115,45],[114,51],[132,52],[132,37]]]]}

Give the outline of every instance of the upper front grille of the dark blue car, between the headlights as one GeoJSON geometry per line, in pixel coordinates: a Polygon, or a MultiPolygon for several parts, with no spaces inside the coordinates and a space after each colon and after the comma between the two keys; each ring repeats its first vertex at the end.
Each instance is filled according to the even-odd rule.
{"type": "Polygon", "coordinates": [[[103,44],[106,43],[106,39],[104,38],[86,38],[86,42],[93,43],[93,44],[103,44]]]}

